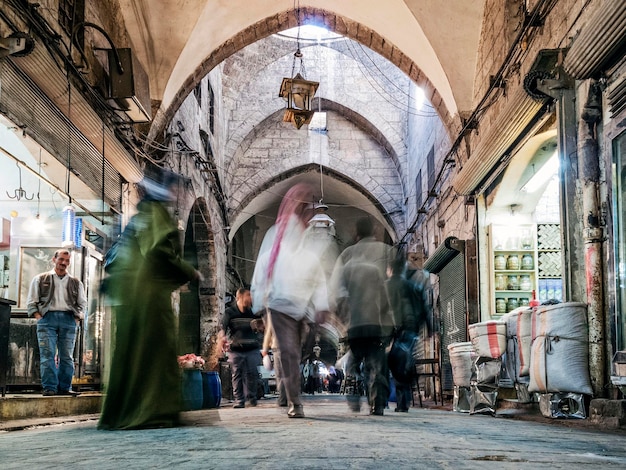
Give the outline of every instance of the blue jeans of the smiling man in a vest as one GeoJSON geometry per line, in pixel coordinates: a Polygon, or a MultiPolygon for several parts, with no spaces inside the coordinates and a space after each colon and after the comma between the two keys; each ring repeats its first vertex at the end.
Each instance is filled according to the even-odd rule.
{"type": "Polygon", "coordinates": [[[44,390],[66,392],[74,376],[74,343],[76,320],[70,312],[46,313],[37,322],[41,385],[44,390]],[[55,360],[59,356],[59,365],[55,360]]]}

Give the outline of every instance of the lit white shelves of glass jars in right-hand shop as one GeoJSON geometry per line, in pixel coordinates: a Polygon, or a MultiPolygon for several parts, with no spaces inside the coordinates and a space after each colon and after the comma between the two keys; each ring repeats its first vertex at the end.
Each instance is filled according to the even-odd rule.
{"type": "Polygon", "coordinates": [[[490,314],[499,318],[527,306],[537,289],[537,236],[534,224],[491,225],[490,314]]]}

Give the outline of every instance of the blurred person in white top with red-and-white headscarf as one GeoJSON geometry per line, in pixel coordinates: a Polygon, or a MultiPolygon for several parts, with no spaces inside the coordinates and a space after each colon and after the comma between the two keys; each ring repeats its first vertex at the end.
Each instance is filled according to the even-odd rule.
{"type": "Polygon", "coordinates": [[[309,185],[296,184],[287,191],[252,276],[253,309],[268,312],[276,341],[276,375],[285,389],[290,418],[304,418],[300,362],[307,323],[323,323],[328,313],[324,270],[318,256],[303,244],[313,200],[309,185]]]}

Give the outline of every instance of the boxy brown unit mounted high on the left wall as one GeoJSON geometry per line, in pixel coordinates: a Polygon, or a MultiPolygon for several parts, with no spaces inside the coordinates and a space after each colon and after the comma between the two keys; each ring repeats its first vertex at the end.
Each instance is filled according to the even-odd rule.
{"type": "Polygon", "coordinates": [[[150,106],[150,82],[148,75],[129,48],[108,49],[109,99],[126,113],[133,122],[149,122],[152,119],[150,106]],[[117,58],[122,66],[120,71],[117,58]]]}

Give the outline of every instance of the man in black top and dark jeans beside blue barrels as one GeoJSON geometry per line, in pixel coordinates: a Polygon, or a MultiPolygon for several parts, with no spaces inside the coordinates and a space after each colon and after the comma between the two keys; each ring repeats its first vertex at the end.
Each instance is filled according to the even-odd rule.
{"type": "Polygon", "coordinates": [[[257,319],[251,307],[250,289],[239,288],[235,305],[224,312],[222,330],[218,335],[218,341],[221,342],[223,350],[226,349],[227,340],[230,341],[228,360],[231,363],[235,396],[233,408],[243,408],[246,399],[250,406],[257,404],[259,375],[257,366],[261,363],[261,345],[257,333],[250,324],[252,320],[257,319]]]}

